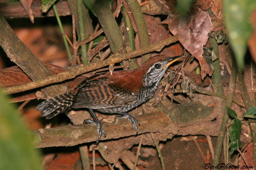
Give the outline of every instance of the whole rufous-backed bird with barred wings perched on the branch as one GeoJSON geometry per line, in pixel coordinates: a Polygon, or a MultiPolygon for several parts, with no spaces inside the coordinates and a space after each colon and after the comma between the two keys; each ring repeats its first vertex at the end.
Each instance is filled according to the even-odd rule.
{"type": "Polygon", "coordinates": [[[128,111],[148,101],[154,96],[167,68],[182,55],[168,57],[156,55],[146,60],[139,68],[134,70],[114,71],[112,75],[96,74],[82,81],[75,89],[68,93],[48,99],[36,106],[41,110],[41,116],[50,119],[59,113],[65,113],[70,109],[87,108],[93,119],[85,119],[85,123],[97,126],[98,139],[102,133],[101,123],[94,113],[97,110],[107,114],[120,114],[115,119],[128,118],[138,134],[137,124],[140,122],[132,117],[128,111]],[[137,124],[136,124],[137,123],[137,124]]]}

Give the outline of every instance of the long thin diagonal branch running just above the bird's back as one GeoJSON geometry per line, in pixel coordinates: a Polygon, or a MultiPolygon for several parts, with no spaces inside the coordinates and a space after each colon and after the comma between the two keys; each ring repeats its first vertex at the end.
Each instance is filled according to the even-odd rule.
{"type": "Polygon", "coordinates": [[[149,53],[152,51],[161,51],[162,48],[164,46],[167,46],[171,43],[174,43],[176,41],[178,41],[178,37],[177,36],[173,36],[167,39],[164,39],[158,43],[155,43],[153,45],[144,47],[144,48],[140,48],[138,50],[134,50],[131,51],[129,53],[124,53],[118,56],[110,56],[108,59],[103,60],[103,61],[99,61],[96,63],[92,63],[90,65],[87,66],[83,66],[83,67],[76,67],[76,68],[71,68],[70,70],[64,71],[62,73],[53,75],[53,76],[49,76],[45,79],[42,80],[38,80],[38,81],[33,81],[30,83],[26,83],[26,84],[22,84],[22,85],[17,85],[17,86],[12,86],[12,87],[7,87],[7,88],[3,88],[2,91],[5,94],[13,94],[13,93],[18,93],[18,92],[22,92],[22,91],[26,91],[26,90],[30,90],[30,89],[35,89],[38,87],[42,87],[42,86],[46,86],[48,84],[52,84],[52,83],[56,83],[56,82],[61,82],[64,80],[68,80],[68,79],[72,79],[74,77],[76,77],[79,74],[83,74],[101,67],[105,67],[111,64],[115,64],[117,62],[121,62],[124,60],[128,60],[130,58],[145,54],[145,53],[149,53]]]}

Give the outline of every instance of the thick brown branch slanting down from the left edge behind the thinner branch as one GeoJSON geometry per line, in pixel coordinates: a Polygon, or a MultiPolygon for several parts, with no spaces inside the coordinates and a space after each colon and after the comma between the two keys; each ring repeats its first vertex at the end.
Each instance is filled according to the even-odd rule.
{"type": "MultiPolygon", "coordinates": [[[[1,14],[0,30],[0,45],[10,60],[16,63],[31,80],[37,81],[52,76],[52,72],[20,41],[1,14]]],[[[65,93],[67,88],[63,84],[58,84],[41,90],[46,98],[51,98],[65,93]]]]}

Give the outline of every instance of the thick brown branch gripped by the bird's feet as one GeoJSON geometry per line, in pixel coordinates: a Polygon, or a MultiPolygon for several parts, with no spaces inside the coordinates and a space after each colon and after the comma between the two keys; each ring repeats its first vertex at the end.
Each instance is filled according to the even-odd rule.
{"type": "MultiPolygon", "coordinates": [[[[156,132],[172,124],[170,117],[164,112],[138,115],[135,118],[140,121],[138,134],[156,132]]],[[[128,119],[103,119],[101,120],[101,124],[107,133],[107,137],[101,137],[101,140],[132,136],[136,133],[134,129],[131,129],[132,124],[128,119]]],[[[30,131],[29,133],[34,139],[36,148],[74,146],[94,142],[98,138],[97,126],[94,124],[78,124],[39,129],[30,131]]]]}

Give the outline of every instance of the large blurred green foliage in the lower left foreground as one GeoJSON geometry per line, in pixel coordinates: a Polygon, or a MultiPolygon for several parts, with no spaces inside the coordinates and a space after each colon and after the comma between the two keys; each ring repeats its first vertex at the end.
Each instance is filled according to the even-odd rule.
{"type": "Polygon", "coordinates": [[[41,170],[25,123],[0,92],[0,169],[41,170]]]}

